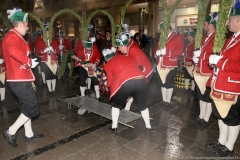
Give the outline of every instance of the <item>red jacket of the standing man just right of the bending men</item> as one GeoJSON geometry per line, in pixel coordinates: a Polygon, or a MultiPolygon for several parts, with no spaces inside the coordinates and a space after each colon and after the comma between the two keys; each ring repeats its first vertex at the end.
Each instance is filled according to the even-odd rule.
{"type": "MultiPolygon", "coordinates": [[[[154,52],[155,54],[158,49],[157,45],[154,52]]],[[[183,53],[183,51],[184,42],[182,36],[172,32],[166,42],[166,54],[162,57],[161,67],[177,67],[178,57],[183,53]]]]}

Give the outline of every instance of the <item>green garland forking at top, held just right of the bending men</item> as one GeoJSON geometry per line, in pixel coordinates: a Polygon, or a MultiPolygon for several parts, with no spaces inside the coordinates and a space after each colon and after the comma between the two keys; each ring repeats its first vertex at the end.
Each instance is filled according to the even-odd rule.
{"type": "Polygon", "coordinates": [[[168,11],[167,8],[167,4],[165,0],[159,0],[160,3],[163,6],[163,11],[164,11],[164,18],[163,18],[163,30],[161,32],[161,36],[160,36],[160,41],[158,44],[158,47],[160,49],[164,48],[166,46],[166,41],[167,41],[167,36],[168,36],[168,29],[170,26],[170,21],[171,21],[171,16],[173,14],[173,11],[176,9],[176,7],[178,6],[178,4],[182,1],[182,0],[177,0],[174,5],[172,6],[172,8],[170,9],[170,11],[168,11]]]}

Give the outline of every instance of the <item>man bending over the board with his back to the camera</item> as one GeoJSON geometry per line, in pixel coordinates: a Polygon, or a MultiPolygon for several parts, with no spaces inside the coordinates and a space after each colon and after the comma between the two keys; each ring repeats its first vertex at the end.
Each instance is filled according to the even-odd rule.
{"type": "MultiPolygon", "coordinates": [[[[117,40],[121,41],[120,39],[117,40]]],[[[116,50],[104,50],[103,55],[107,62],[104,70],[107,75],[107,85],[111,90],[112,99],[112,126],[109,129],[116,134],[120,110],[125,107],[128,97],[134,100],[141,111],[146,126],[146,133],[151,132],[149,110],[146,104],[147,83],[142,70],[132,58],[122,55],[115,56],[116,50]]]]}

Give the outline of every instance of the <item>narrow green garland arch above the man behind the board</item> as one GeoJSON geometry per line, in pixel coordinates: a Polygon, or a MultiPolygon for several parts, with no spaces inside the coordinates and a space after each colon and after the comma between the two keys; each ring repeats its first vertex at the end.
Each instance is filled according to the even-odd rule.
{"type": "MultiPolygon", "coordinates": [[[[114,20],[113,20],[113,17],[105,10],[100,10],[100,9],[97,9],[96,11],[92,12],[88,18],[87,18],[87,22],[86,22],[86,28],[88,28],[92,18],[99,12],[102,12],[104,15],[108,16],[110,22],[111,22],[111,30],[112,30],[112,46],[115,46],[115,23],[114,23],[114,20]]],[[[84,39],[86,40],[86,39],[84,39]]]]}

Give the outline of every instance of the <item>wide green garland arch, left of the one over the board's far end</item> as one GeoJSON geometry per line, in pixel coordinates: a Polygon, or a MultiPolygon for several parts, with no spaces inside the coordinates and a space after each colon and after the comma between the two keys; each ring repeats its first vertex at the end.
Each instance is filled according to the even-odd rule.
{"type": "MultiPolygon", "coordinates": [[[[56,12],[56,13],[52,16],[52,18],[51,18],[51,20],[50,20],[50,24],[49,24],[49,37],[52,37],[52,34],[53,34],[53,23],[54,23],[55,19],[56,19],[59,15],[61,15],[61,14],[63,14],[63,13],[71,13],[72,15],[74,15],[74,16],[79,20],[79,22],[80,22],[80,24],[81,24],[81,26],[82,26],[82,28],[83,28],[83,26],[84,26],[83,18],[82,18],[77,12],[75,12],[75,11],[72,10],[72,9],[61,9],[60,11],[56,12]]],[[[82,33],[82,35],[83,35],[83,34],[85,34],[85,33],[82,33]]],[[[50,38],[49,40],[50,40],[50,43],[51,43],[52,39],[50,38]]]]}

